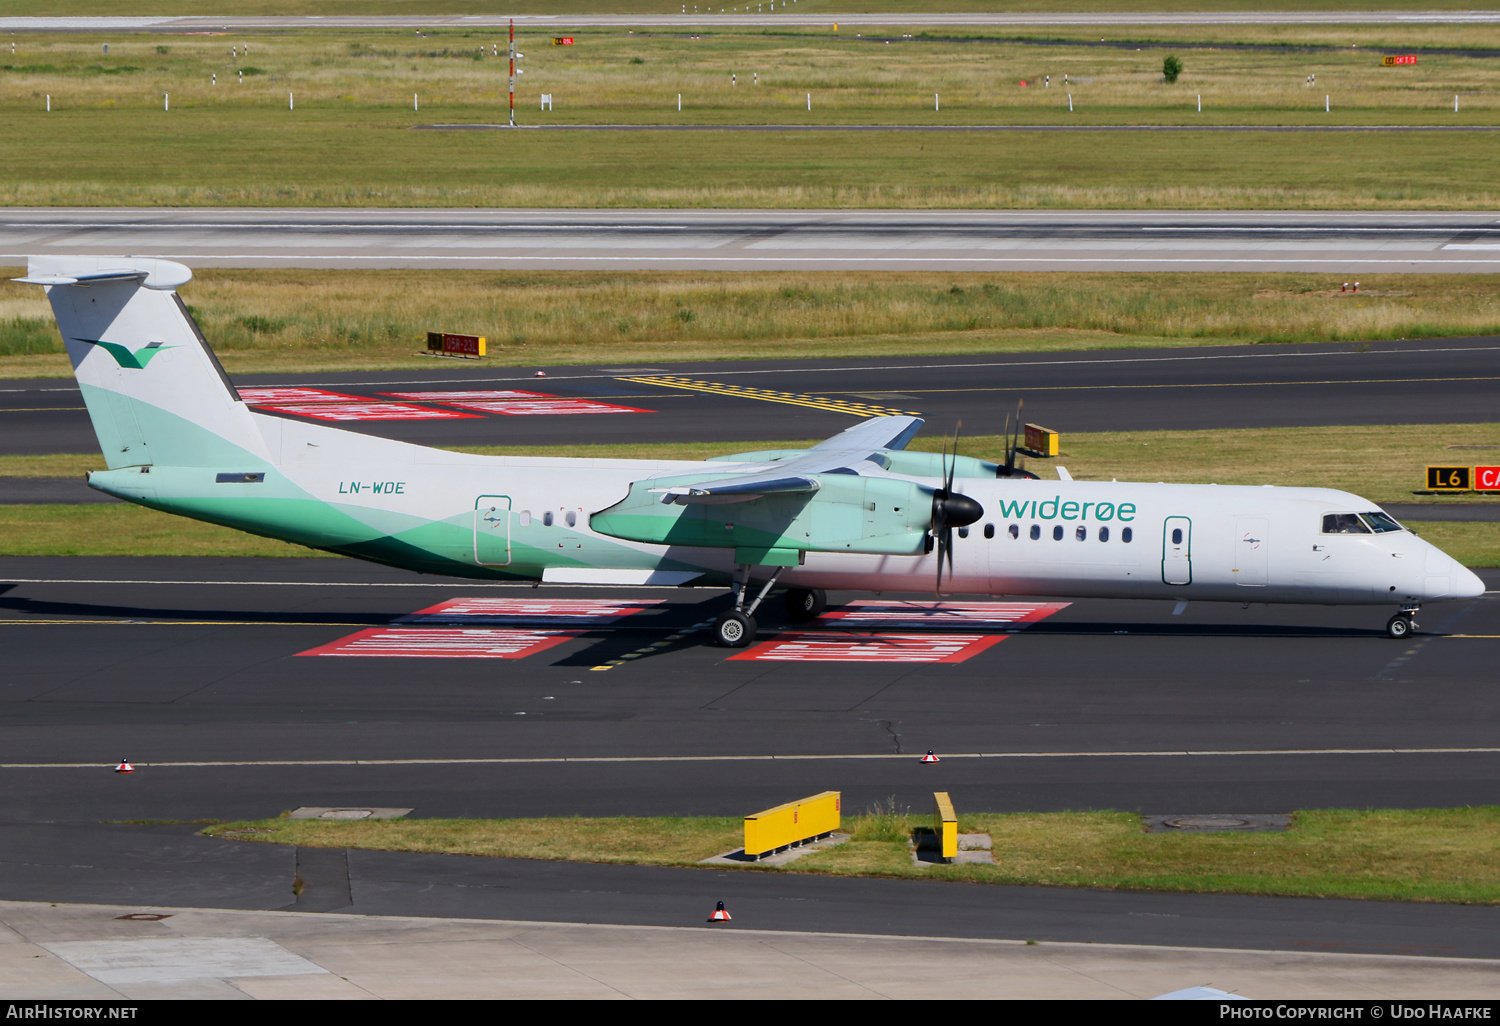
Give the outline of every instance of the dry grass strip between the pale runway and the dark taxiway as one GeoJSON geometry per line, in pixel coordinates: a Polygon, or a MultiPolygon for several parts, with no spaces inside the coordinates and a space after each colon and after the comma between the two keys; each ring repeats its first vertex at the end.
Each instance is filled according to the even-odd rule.
{"type": "MultiPolygon", "coordinates": [[[[236,374],[430,366],[429,328],[507,366],[1500,333],[1494,274],[204,268],[183,298],[236,374]]],[[[0,280],[0,378],[69,374],[40,290],[0,280]]]]}

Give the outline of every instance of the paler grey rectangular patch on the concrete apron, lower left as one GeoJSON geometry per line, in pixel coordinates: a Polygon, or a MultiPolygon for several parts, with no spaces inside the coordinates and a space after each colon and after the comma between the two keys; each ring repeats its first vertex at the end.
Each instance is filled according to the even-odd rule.
{"type": "Polygon", "coordinates": [[[104,984],[153,984],[243,976],[310,976],[327,969],[266,938],[64,940],[42,944],[104,984]]]}

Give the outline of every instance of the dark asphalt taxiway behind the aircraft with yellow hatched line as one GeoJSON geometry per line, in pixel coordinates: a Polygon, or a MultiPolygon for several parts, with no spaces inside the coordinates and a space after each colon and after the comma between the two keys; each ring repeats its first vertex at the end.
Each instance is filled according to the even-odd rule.
{"type": "MultiPolygon", "coordinates": [[[[338,422],[351,430],[436,446],[810,440],[882,411],[918,412],[927,417],[927,434],[951,432],[962,422],[966,435],[984,435],[1004,432],[1006,417],[1024,400],[1024,418],[1060,430],[1066,452],[1068,432],[1080,430],[1484,423],[1496,418],[1497,354],[1500,338],[1491,336],[549,368],[544,380],[531,368],[432,360],[430,369],[236,375],[234,381],[240,387],[316,387],[382,402],[394,402],[384,393],[396,392],[520,390],[642,411],[525,417],[468,411],[476,416],[338,422]],[[722,390],[699,390],[710,386],[722,390]]],[[[436,408],[434,402],[426,408],[436,408]]],[[[0,381],[0,454],[92,452],[98,441],[70,381],[0,381]]],[[[1462,453],[1464,460],[1470,456],[1462,453]]]]}

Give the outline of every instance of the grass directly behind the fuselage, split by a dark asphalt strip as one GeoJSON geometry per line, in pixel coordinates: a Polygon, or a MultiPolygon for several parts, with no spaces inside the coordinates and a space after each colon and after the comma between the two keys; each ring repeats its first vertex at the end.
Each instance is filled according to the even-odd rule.
{"type": "MultiPolygon", "coordinates": [[[[596,456],[612,459],[705,459],[732,452],[798,447],[806,442],[688,442],[675,446],[572,446],[566,448],[484,446],[492,454],[596,456]]],[[[1340,488],[1374,502],[1455,501],[1413,496],[1422,468],[1455,460],[1446,446],[1500,444],[1500,424],[1422,428],[1275,428],[1200,432],[1104,432],[1064,438],[1058,462],[1078,480],[1215,482],[1340,488]],[[1308,459],[1317,453],[1317,459],[1308,459]]],[[[942,440],[918,438],[912,448],[936,452],[942,440]]],[[[964,454],[1002,458],[996,435],[964,438],[964,454]]],[[[1468,453],[1464,453],[1467,458],[1468,453]]],[[[1040,464],[1040,460],[1038,460],[1040,464]]],[[[0,477],[58,477],[100,470],[88,454],[0,456],[0,477]]],[[[1044,465],[1036,465],[1052,476],[1044,465]]],[[[1456,500],[1466,501],[1466,500],[1456,500]]],[[[1470,498],[1485,502],[1494,500],[1470,498]]],[[[1424,538],[1460,562],[1500,566],[1500,524],[1412,520],[1424,538]]],[[[258,538],[138,506],[0,506],[0,555],[225,555],[308,556],[312,549],[258,538]]]]}

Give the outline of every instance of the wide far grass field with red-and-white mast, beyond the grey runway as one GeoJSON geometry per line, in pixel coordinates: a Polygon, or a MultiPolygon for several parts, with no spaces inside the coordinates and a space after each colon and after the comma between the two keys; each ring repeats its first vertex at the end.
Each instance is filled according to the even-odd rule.
{"type": "MultiPolygon", "coordinates": [[[[543,92],[555,98],[546,120],[561,124],[1486,128],[1500,111],[1494,57],[1440,52],[1500,50],[1500,27],[1096,32],[1102,40],[1082,30],[1072,39],[896,33],[886,45],[802,30],[608,30],[567,48],[532,33],[520,122],[542,120],[532,105],[543,92]],[[1230,46],[1244,42],[1274,48],[1230,46]],[[1414,68],[1382,68],[1371,46],[1424,52],[1414,68]],[[1161,62],[1176,48],[1186,70],[1167,86],[1161,62]]],[[[0,132],[27,141],[0,150],[0,204],[12,206],[1500,204],[1494,132],[1444,134],[1440,144],[1412,134],[423,132],[412,128],[504,120],[496,32],[6,42],[16,52],[0,44],[0,132]]]]}

